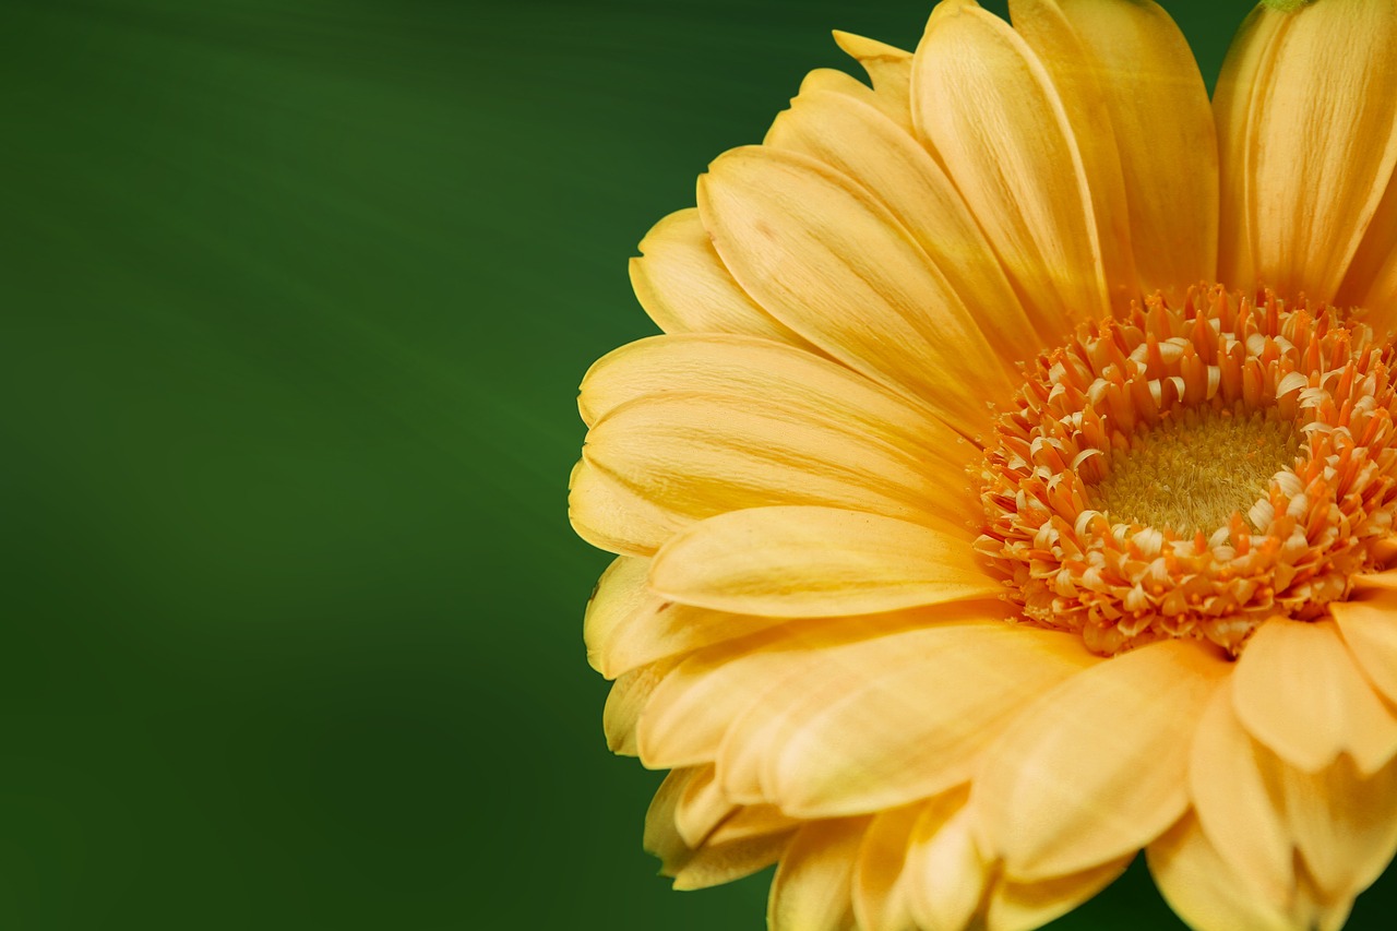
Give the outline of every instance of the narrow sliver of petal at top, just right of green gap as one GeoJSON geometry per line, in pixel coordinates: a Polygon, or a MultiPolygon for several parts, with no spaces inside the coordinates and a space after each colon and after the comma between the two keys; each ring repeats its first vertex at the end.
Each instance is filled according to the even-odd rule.
{"type": "Polygon", "coordinates": [[[1284,14],[1257,4],[1234,36],[1213,92],[1218,141],[1218,280],[1243,291],[1257,284],[1253,127],[1287,22],[1284,14]]]}

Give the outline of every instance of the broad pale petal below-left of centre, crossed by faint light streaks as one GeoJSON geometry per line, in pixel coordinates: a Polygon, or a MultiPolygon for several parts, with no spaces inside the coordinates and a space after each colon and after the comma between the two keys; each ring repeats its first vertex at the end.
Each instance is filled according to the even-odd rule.
{"type": "Polygon", "coordinates": [[[893,654],[865,664],[844,650],[830,685],[807,682],[782,732],[771,737],[766,781],[782,811],[862,814],[965,781],[978,753],[1024,705],[1099,661],[1081,637],[1002,622],[886,640],[893,654]],[[847,686],[834,688],[842,677],[847,686]]]}

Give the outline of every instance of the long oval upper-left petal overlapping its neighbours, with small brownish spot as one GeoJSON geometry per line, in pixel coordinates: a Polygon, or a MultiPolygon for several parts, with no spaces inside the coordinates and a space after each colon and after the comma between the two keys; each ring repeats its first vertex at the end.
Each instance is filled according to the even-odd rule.
{"type": "Polygon", "coordinates": [[[698,179],[733,277],[849,368],[923,401],[967,436],[1016,383],[915,238],[862,186],[795,152],[738,148],[698,179]]]}

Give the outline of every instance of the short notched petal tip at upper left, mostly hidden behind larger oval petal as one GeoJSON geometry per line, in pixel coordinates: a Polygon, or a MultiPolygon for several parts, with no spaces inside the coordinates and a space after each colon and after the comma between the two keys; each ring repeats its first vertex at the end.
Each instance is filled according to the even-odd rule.
{"type": "Polygon", "coordinates": [[[630,284],[665,333],[743,333],[809,347],[732,280],[696,208],[655,224],[640,252],[630,260],[630,284]]]}

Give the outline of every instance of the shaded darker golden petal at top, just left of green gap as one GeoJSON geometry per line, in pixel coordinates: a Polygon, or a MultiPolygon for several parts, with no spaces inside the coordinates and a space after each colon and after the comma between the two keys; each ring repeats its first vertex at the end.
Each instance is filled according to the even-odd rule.
{"type": "Polygon", "coordinates": [[[1105,95],[1140,285],[1182,299],[1217,274],[1217,133],[1193,52],[1154,0],[1058,1],[1105,95]]]}

